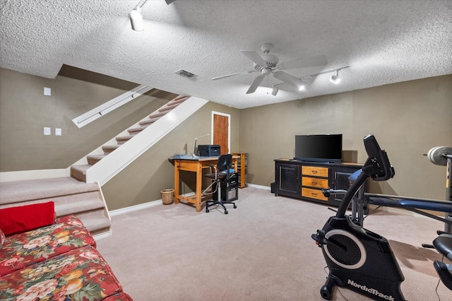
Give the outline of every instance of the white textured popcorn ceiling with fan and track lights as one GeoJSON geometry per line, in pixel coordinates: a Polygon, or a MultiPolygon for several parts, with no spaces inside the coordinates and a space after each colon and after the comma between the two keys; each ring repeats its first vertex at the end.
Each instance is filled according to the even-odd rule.
{"type": "Polygon", "coordinates": [[[452,73],[452,1],[184,1],[143,6],[145,30],[131,30],[137,1],[1,0],[0,67],[54,78],[62,64],[244,108],[452,73]],[[280,61],[324,54],[328,64],[293,69],[309,81],[278,95],[240,50],[270,42],[280,61]],[[184,69],[197,75],[184,78],[184,69]],[[270,87],[270,88],[268,88],[270,87]]]}

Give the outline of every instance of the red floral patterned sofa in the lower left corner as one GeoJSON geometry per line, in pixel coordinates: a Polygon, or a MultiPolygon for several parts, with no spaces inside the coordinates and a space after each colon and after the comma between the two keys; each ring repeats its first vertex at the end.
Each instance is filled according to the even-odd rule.
{"type": "Polygon", "coordinates": [[[0,229],[0,300],[132,300],[76,216],[5,236],[0,229]]]}

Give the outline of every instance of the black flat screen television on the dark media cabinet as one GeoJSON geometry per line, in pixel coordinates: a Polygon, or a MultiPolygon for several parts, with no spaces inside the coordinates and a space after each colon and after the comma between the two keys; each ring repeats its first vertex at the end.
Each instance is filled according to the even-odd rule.
{"type": "Polygon", "coordinates": [[[342,162],[342,134],[295,135],[295,160],[342,162]]]}

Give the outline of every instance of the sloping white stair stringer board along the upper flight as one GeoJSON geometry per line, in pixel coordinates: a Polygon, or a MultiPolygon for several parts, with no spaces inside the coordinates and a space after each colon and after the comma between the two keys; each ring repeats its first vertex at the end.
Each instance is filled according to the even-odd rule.
{"type": "Polygon", "coordinates": [[[109,153],[95,165],[86,170],[86,183],[99,183],[102,187],[109,179],[112,179],[127,165],[132,163],[141,154],[160,141],[166,134],[172,131],[176,126],[184,122],[185,119],[194,114],[208,100],[190,97],[177,107],[160,117],[156,122],[150,124],[146,129],[136,134],[120,148],[109,153]]]}

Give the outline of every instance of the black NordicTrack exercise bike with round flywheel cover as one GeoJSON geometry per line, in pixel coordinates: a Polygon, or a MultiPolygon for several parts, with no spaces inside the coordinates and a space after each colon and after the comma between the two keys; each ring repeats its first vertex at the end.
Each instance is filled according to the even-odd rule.
{"type": "MultiPolygon", "coordinates": [[[[333,287],[338,285],[374,300],[405,300],[400,290],[405,278],[388,240],[362,228],[351,216],[345,215],[350,202],[367,178],[378,182],[395,175],[386,151],[381,150],[374,136],[364,137],[364,147],[369,158],[345,192],[336,215],[329,218],[321,230],[311,235],[321,247],[329,269],[326,283],[321,287],[321,296],[331,300],[333,287]]],[[[444,242],[443,247],[444,252],[451,252],[451,240],[444,242]]],[[[444,271],[444,266],[441,266],[441,270],[451,273],[444,271]]]]}

